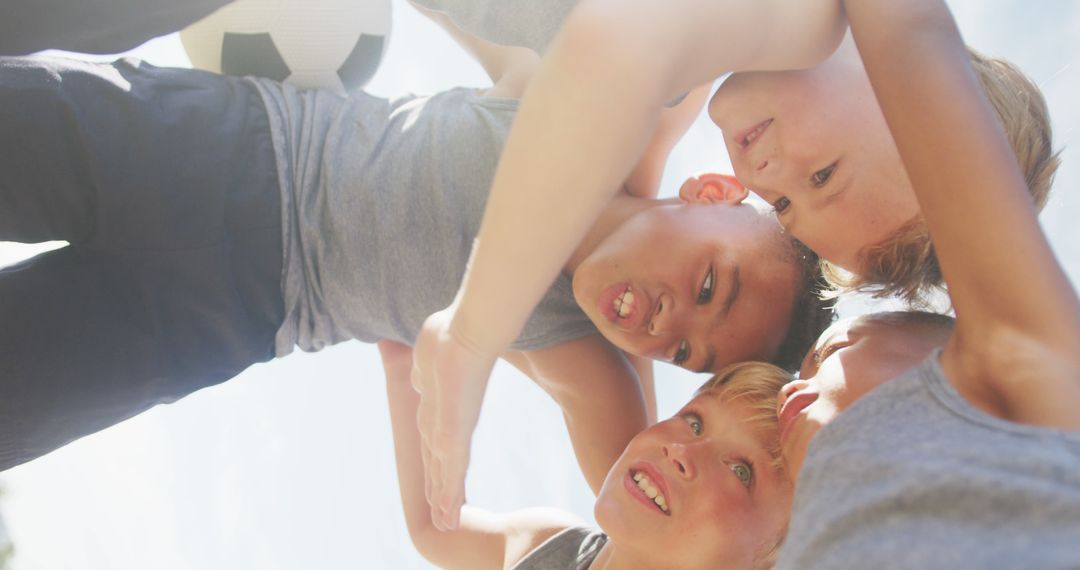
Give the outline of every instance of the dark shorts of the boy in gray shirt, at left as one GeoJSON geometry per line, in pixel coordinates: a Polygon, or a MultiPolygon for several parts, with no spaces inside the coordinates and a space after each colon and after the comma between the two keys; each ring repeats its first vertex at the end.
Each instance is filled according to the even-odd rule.
{"type": "Polygon", "coordinates": [[[280,190],[254,85],[0,58],[0,470],[273,355],[280,190]]]}

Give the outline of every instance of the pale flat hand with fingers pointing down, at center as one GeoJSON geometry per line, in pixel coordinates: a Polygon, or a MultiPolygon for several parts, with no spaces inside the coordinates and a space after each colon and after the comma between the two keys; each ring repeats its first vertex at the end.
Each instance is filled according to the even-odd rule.
{"type": "Polygon", "coordinates": [[[472,433],[496,358],[455,334],[454,311],[451,306],[429,316],[413,351],[424,490],[431,521],[440,530],[458,526],[472,433]]]}

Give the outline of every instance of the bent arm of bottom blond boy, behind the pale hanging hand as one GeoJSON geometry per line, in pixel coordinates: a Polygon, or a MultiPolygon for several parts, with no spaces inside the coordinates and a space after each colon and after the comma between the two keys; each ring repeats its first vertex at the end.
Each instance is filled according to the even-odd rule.
{"type": "Polygon", "coordinates": [[[554,510],[530,508],[497,515],[464,506],[457,530],[442,532],[431,524],[423,489],[423,462],[416,430],[419,395],[408,382],[411,349],[391,341],[379,342],[387,374],[387,396],[393,428],[397,485],[409,538],[432,564],[448,569],[502,569],[528,554],[559,530],[580,521],[554,510]]]}

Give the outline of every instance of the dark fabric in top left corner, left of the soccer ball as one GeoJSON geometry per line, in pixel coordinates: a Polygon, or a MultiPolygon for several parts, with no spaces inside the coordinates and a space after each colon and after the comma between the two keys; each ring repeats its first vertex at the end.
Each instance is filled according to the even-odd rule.
{"type": "Polygon", "coordinates": [[[0,55],[110,54],[186,28],[232,0],[5,0],[0,55]]]}

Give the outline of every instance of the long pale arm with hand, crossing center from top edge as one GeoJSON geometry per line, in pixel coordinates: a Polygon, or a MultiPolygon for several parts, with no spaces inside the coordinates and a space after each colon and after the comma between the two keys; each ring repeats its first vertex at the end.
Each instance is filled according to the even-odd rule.
{"type": "Polygon", "coordinates": [[[812,65],[837,0],[585,0],[534,76],[454,303],[417,339],[432,516],[453,527],[495,358],[630,174],[662,105],[721,73],[812,65]]]}

